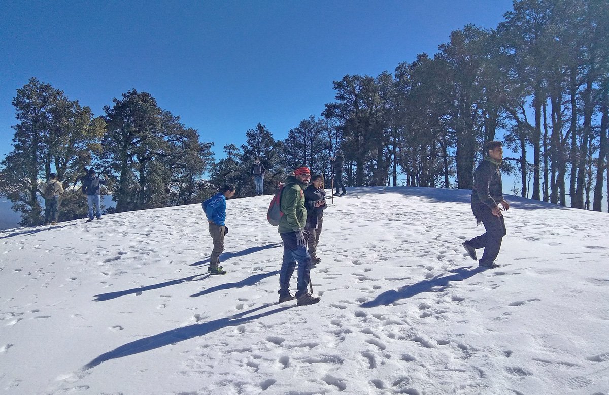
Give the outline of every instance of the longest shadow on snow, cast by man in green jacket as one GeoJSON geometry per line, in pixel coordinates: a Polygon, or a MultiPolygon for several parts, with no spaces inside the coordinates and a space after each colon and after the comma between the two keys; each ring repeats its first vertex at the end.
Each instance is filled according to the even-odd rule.
{"type": "Polygon", "coordinates": [[[175,344],[180,341],[192,339],[197,336],[203,336],[210,332],[214,332],[219,329],[224,329],[230,326],[239,326],[255,319],[270,316],[275,313],[281,313],[289,308],[295,307],[296,305],[287,305],[284,307],[278,307],[273,310],[266,311],[265,313],[259,313],[255,316],[244,317],[245,315],[251,314],[255,311],[261,310],[262,308],[270,307],[275,305],[274,303],[267,303],[260,307],[252,308],[251,310],[242,311],[236,315],[214,319],[214,321],[203,322],[202,324],[192,324],[189,326],[175,328],[167,330],[166,332],[157,333],[157,335],[147,336],[145,338],[139,338],[130,343],[123,344],[122,346],[116,347],[112,351],[108,351],[99,357],[95,358],[91,362],[83,366],[83,370],[94,368],[102,362],[113,360],[116,358],[127,357],[128,355],[139,354],[140,352],[146,352],[160,347],[167,346],[168,344],[175,344]]]}

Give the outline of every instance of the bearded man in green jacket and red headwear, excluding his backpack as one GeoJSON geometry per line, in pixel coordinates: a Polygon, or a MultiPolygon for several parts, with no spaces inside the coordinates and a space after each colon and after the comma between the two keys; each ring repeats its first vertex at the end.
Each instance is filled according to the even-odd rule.
{"type": "Polygon", "coordinates": [[[315,304],[321,300],[307,292],[307,285],[311,283],[309,271],[311,270],[311,257],[306,250],[306,208],[305,193],[303,189],[311,179],[309,168],[302,166],[294,171],[294,176],[288,176],[286,186],[281,191],[281,212],[279,221],[279,234],[283,240],[283,262],[279,275],[279,302],[298,299],[298,305],[315,304]],[[290,278],[294,274],[296,263],[297,292],[290,294],[290,278]]]}

